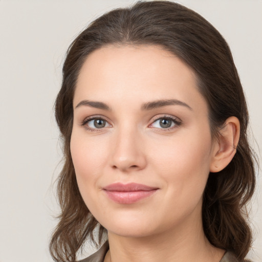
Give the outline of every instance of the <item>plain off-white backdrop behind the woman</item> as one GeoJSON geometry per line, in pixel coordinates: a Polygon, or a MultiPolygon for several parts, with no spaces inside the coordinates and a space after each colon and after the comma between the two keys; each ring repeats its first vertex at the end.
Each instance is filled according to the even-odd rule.
{"type": "MultiPolygon", "coordinates": [[[[134,2],[0,0],[0,262],[52,260],[48,241],[59,210],[52,185],[62,157],[53,104],[64,54],[91,20],[134,2]]],[[[228,41],[247,95],[258,152],[262,145],[262,1],[179,3],[203,15],[228,41]]],[[[261,188],[258,178],[252,202],[256,240],[249,254],[257,262],[262,260],[261,188]]]]}

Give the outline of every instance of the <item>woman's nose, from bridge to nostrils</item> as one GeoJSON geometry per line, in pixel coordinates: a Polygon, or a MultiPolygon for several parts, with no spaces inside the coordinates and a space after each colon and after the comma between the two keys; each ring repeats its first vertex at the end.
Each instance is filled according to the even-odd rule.
{"type": "Polygon", "coordinates": [[[123,172],[144,169],[146,156],[143,150],[143,139],[138,132],[126,129],[117,132],[112,141],[114,145],[111,151],[111,166],[123,172]]]}

